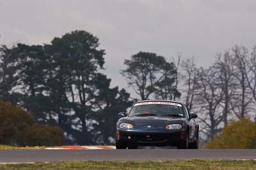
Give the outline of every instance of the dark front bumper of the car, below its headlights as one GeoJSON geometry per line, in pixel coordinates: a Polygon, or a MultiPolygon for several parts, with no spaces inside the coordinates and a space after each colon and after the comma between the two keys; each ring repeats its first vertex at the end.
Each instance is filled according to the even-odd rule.
{"type": "Polygon", "coordinates": [[[176,146],[184,141],[185,129],[171,131],[125,131],[117,129],[116,140],[137,146],[176,146]]]}

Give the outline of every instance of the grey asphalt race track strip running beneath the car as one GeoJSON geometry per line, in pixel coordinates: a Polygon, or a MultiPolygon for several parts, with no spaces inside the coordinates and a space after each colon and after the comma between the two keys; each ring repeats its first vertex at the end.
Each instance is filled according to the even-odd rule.
{"type": "Polygon", "coordinates": [[[0,150],[3,162],[52,162],[61,160],[256,160],[256,150],[0,150]]]}

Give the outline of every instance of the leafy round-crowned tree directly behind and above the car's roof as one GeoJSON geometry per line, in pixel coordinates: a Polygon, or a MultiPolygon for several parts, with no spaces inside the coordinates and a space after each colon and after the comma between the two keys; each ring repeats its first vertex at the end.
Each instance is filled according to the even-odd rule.
{"type": "Polygon", "coordinates": [[[123,69],[121,74],[141,100],[149,99],[154,93],[162,99],[173,98],[173,94],[179,96],[177,89],[173,89],[173,77],[177,72],[173,63],[166,62],[163,56],[139,52],[132,55],[131,60],[125,60],[124,64],[127,69],[123,69]]]}

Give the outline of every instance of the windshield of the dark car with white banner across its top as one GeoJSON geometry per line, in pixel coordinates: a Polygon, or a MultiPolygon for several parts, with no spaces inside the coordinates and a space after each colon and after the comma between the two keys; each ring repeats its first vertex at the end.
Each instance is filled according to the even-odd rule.
{"type": "Polygon", "coordinates": [[[168,102],[136,103],[127,117],[185,117],[181,104],[168,102]]]}

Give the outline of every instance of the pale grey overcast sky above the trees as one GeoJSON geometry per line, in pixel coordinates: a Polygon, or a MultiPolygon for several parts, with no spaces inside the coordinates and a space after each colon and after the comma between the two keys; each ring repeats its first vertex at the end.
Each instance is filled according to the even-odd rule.
{"type": "Polygon", "coordinates": [[[106,50],[112,85],[127,87],[119,71],[139,51],[209,66],[216,52],[256,45],[256,1],[247,0],[0,0],[0,43],[50,43],[76,29],[92,32],[106,50]]]}

